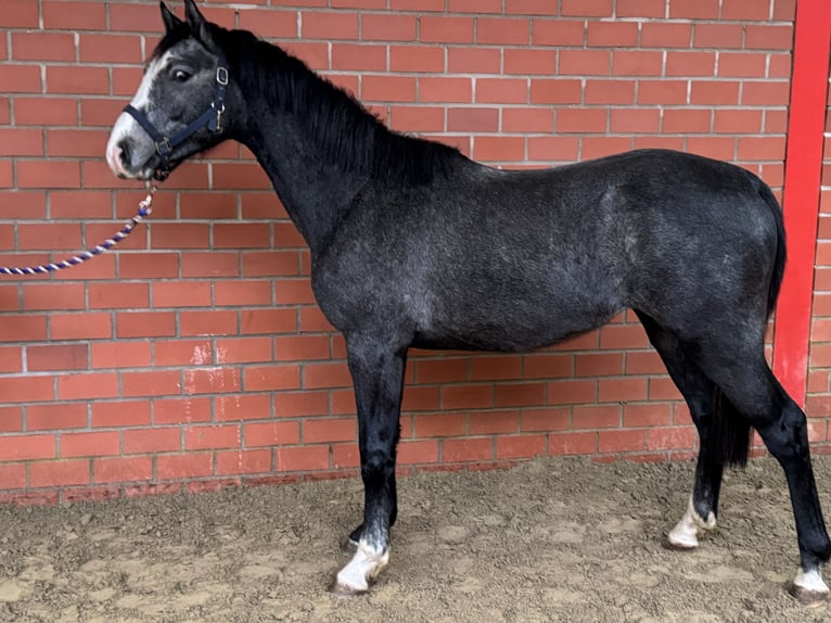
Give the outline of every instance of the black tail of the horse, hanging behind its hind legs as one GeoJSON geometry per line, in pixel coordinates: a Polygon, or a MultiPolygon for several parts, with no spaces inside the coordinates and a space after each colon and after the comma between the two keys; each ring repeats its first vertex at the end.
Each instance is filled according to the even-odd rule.
{"type": "MultiPolygon", "coordinates": [[[[751,182],[762,199],[770,208],[770,214],[776,223],[776,255],[774,270],[768,285],[767,316],[769,318],[776,307],[779,289],[782,284],[785,262],[784,244],[784,219],[782,208],[764,181],[755,175],[749,174],[751,182]]],[[[744,467],[747,465],[747,456],[751,447],[751,424],[730,400],[725,396],[721,387],[715,390],[715,425],[707,438],[709,456],[714,461],[725,466],[744,467]]]]}

